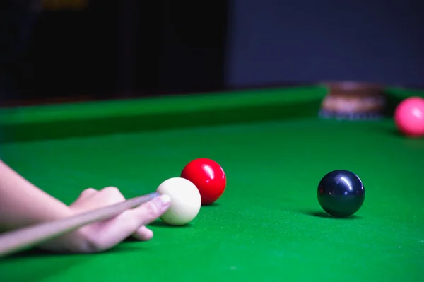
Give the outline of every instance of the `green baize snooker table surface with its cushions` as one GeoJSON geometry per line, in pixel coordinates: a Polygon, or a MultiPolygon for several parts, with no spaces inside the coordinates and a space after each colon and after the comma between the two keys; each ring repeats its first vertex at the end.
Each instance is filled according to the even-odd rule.
{"type": "MultiPolygon", "coordinates": [[[[2,109],[1,158],[66,204],[87,187],[153,192],[200,157],[220,163],[228,183],[189,225],[157,221],[153,240],[101,254],[14,254],[0,260],[0,281],[424,281],[424,140],[398,134],[390,116],[320,119],[326,93],[302,86],[2,109]],[[319,180],[337,169],[365,185],[350,218],[326,215],[317,201],[319,180]]],[[[391,110],[423,94],[387,88],[391,110]]]]}

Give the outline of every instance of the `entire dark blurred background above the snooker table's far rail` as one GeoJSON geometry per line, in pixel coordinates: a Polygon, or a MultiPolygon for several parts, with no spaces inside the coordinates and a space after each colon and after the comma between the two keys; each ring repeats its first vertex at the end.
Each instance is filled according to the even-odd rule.
{"type": "Polygon", "coordinates": [[[424,85],[424,1],[2,0],[3,105],[319,81],[424,85]]]}

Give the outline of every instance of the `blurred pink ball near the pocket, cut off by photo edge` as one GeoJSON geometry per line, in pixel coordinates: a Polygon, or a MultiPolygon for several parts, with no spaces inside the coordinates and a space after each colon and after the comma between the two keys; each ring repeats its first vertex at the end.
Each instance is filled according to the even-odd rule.
{"type": "Polygon", "coordinates": [[[411,97],[402,100],[394,111],[394,122],[406,136],[424,135],[424,99],[411,97]]]}

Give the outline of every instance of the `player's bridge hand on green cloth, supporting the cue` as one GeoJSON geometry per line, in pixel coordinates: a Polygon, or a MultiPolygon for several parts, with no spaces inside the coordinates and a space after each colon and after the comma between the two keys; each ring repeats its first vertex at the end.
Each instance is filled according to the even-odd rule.
{"type": "MultiPolygon", "coordinates": [[[[77,215],[122,201],[125,201],[125,197],[116,187],[106,187],[99,191],[88,188],[69,208],[73,215],[77,215]]],[[[102,252],[129,236],[142,241],[150,240],[153,231],[148,229],[146,224],[159,218],[169,206],[169,196],[158,196],[107,221],[85,225],[69,234],[49,240],[40,247],[54,252],[102,252]]]]}

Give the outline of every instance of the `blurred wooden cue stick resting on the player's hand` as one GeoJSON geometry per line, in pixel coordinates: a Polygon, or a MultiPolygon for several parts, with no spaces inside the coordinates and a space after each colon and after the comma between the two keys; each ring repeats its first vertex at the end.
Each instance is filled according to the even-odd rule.
{"type": "Polygon", "coordinates": [[[73,230],[81,228],[83,225],[93,223],[95,221],[104,221],[126,211],[129,208],[140,206],[146,201],[159,196],[158,192],[138,196],[133,199],[126,200],[122,203],[113,204],[103,208],[98,208],[93,211],[78,214],[70,218],[60,219],[47,223],[13,230],[11,232],[0,235],[0,257],[13,252],[18,252],[22,249],[38,245],[42,242],[58,237],[64,233],[69,233],[73,230]]]}

